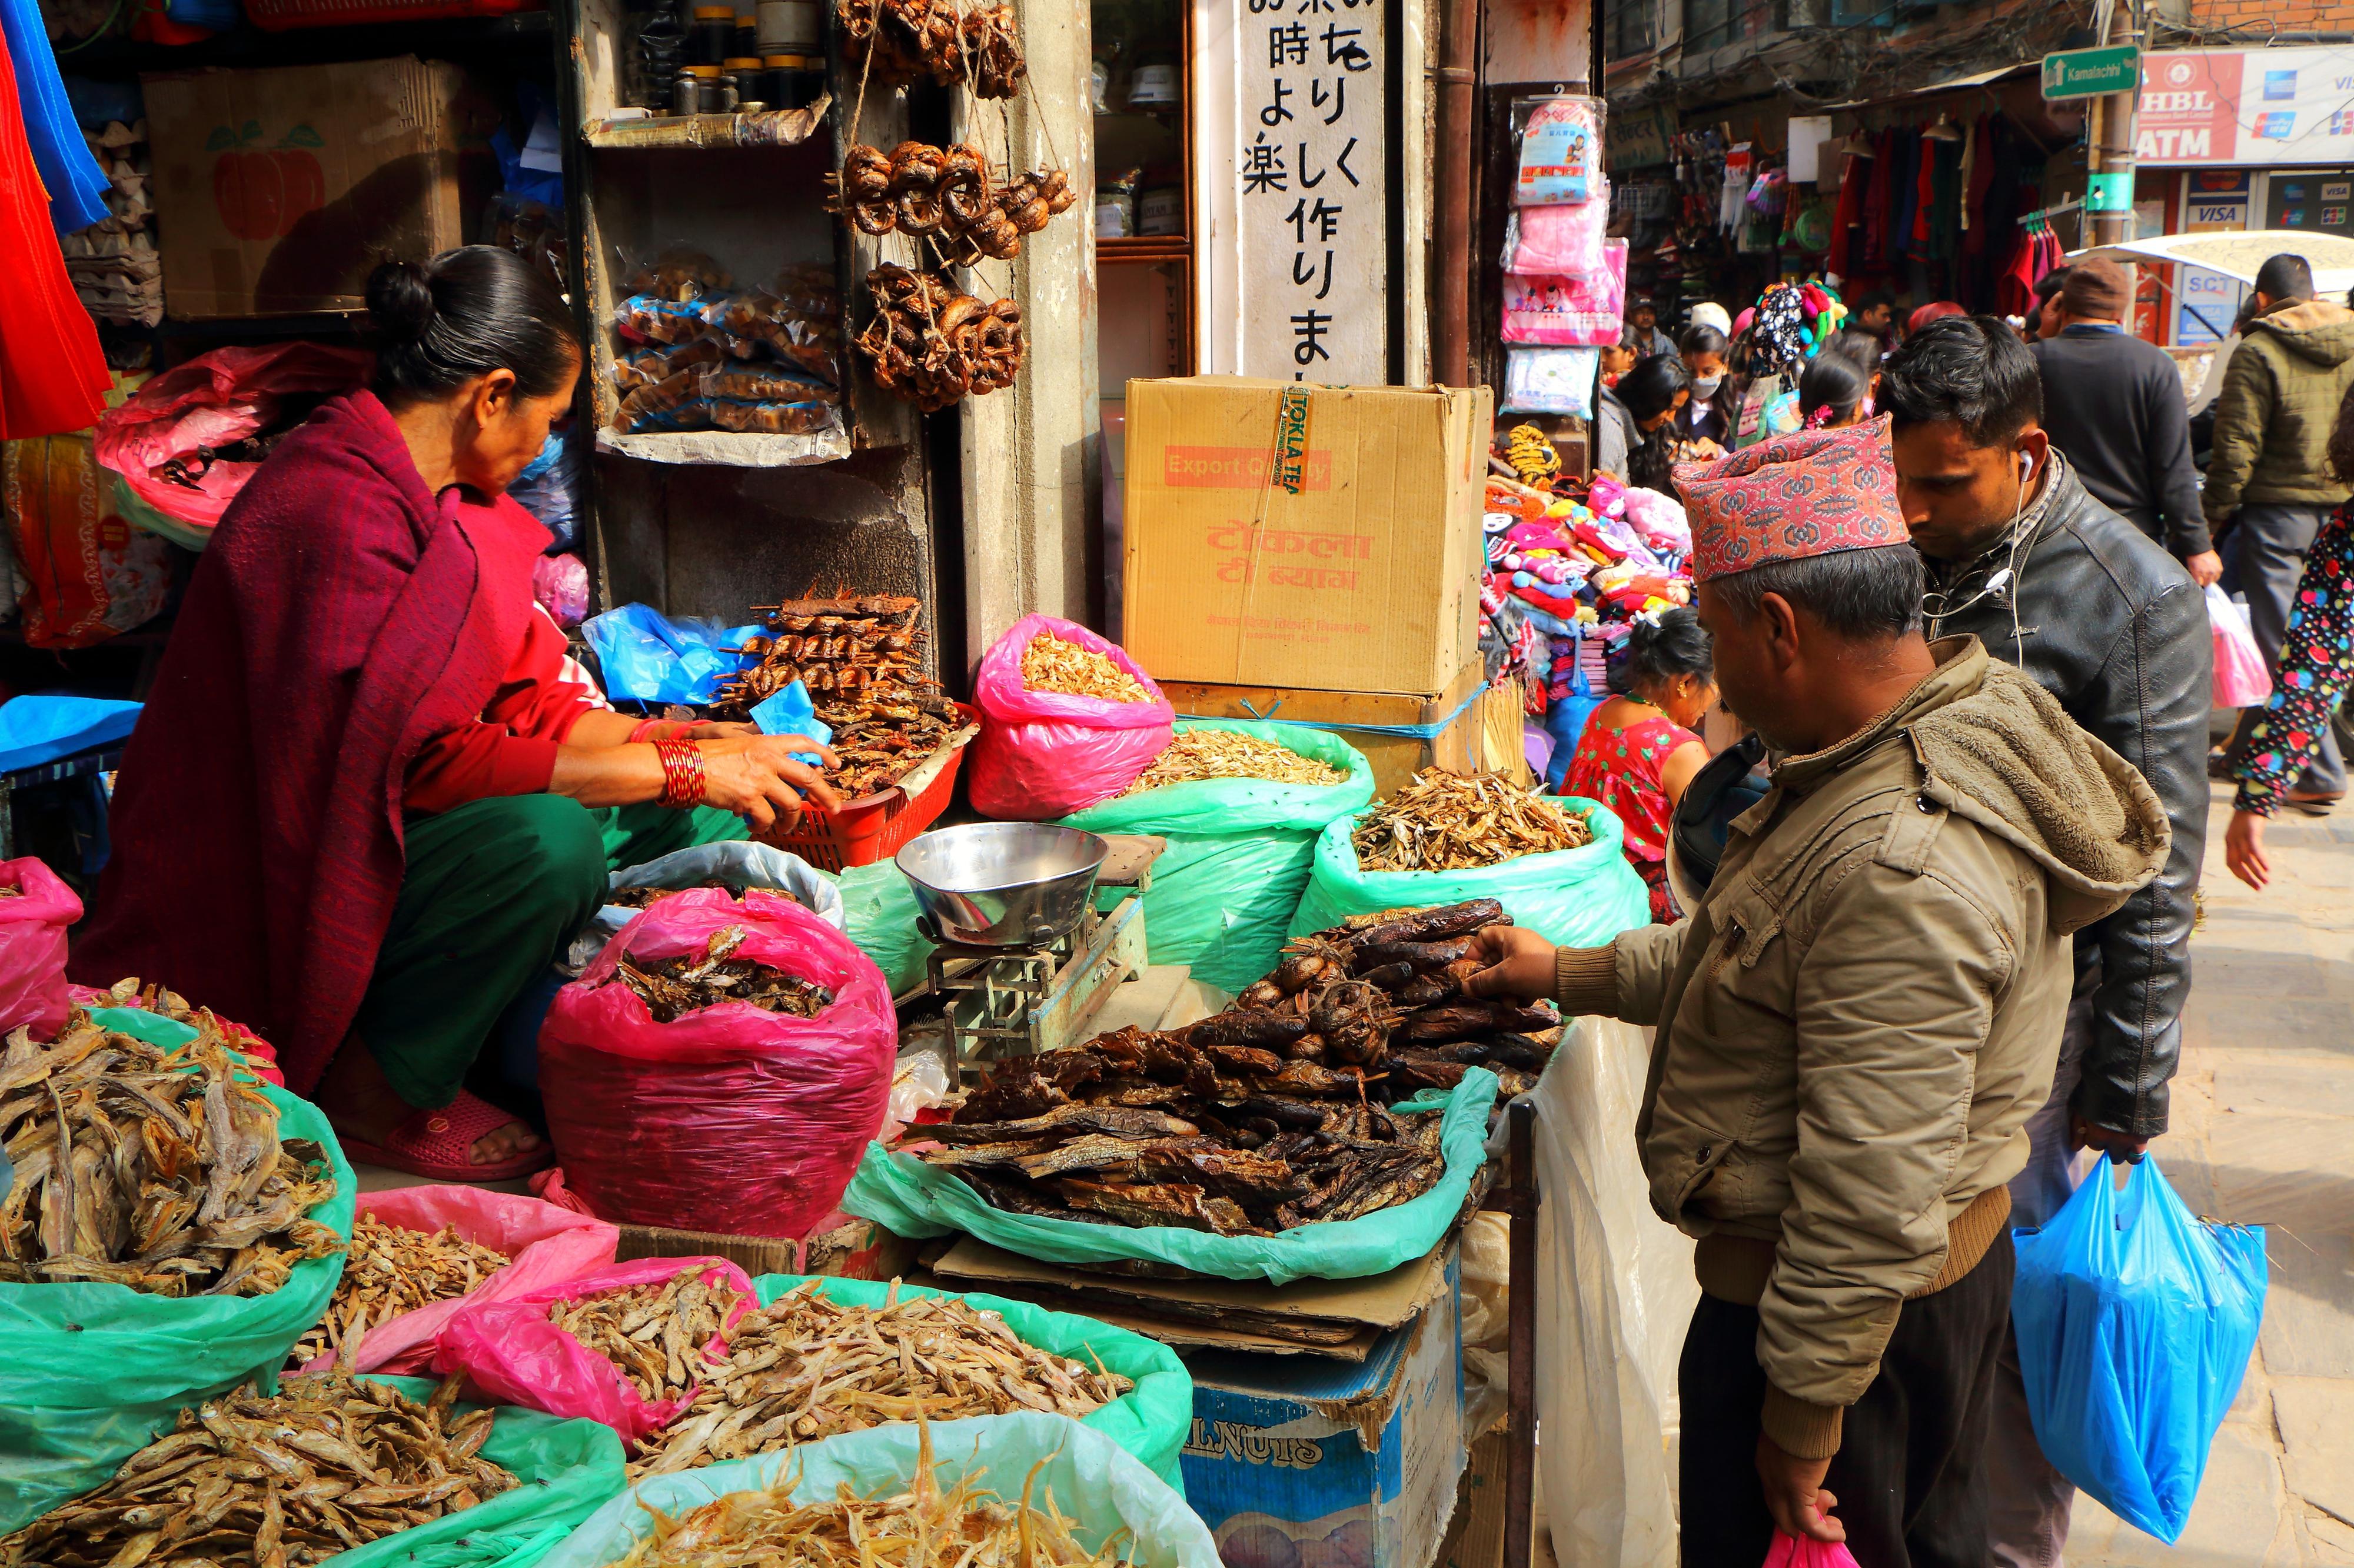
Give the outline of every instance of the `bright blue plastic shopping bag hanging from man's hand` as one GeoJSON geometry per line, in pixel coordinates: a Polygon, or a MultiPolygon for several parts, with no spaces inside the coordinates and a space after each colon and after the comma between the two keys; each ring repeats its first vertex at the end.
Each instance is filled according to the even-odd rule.
{"type": "Polygon", "coordinates": [[[2203,1224],[2144,1158],[2013,1231],[2027,1410],[2053,1467],[2173,1544],[2265,1318],[2265,1229],[2203,1224]]]}

